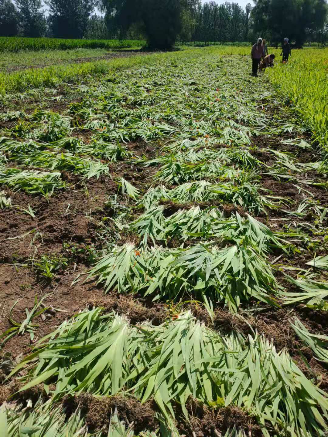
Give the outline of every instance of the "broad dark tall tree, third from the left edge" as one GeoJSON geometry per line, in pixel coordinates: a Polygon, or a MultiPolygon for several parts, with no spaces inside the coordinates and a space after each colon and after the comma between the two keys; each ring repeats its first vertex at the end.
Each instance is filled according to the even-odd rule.
{"type": "Polygon", "coordinates": [[[83,38],[96,0],[45,0],[49,27],[56,38],[83,38]]]}

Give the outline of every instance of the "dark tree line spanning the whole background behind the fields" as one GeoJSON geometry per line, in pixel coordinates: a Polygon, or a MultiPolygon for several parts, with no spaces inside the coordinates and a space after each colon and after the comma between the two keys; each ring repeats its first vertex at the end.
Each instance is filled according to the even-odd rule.
{"type": "Polygon", "coordinates": [[[0,0],[0,36],[147,39],[168,48],[176,40],[278,44],[287,36],[297,46],[328,41],[327,0],[0,0]],[[98,7],[102,15],[94,13],[98,7]]]}

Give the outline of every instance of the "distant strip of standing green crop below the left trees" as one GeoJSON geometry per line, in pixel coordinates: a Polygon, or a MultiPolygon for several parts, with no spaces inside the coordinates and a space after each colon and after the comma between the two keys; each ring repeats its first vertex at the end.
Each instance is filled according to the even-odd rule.
{"type": "Polygon", "coordinates": [[[144,45],[144,41],[132,39],[61,39],[61,38],[18,38],[1,37],[0,52],[19,52],[21,50],[70,50],[88,49],[129,49],[144,45]]]}

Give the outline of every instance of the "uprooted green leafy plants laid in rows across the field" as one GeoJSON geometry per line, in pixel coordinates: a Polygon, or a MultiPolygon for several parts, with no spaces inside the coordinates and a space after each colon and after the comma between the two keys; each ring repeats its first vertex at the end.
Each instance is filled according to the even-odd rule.
{"type": "MultiPolygon", "coordinates": [[[[87,212],[91,265],[66,262],[70,290],[96,280],[90,293],[98,284],[107,296],[175,308],[157,326],[81,304],[80,314],[70,314],[11,366],[5,383],[20,374],[21,393],[41,384],[57,403],[53,423],[61,423],[62,434],[67,427],[87,434],[83,414],[66,422],[58,404],[83,393],[155,403],[156,426],[135,434],[113,410],[107,426],[90,427],[100,434],[204,435],[191,402],[216,417],[208,435],[327,432],[327,392],[318,375],[304,375],[287,344],[277,352],[269,337],[205,326],[179,310],[197,302],[209,320],[219,308],[247,323],[248,316],[286,307],[290,329],[323,363],[325,378],[328,337],[297,309],[322,317],[327,311],[325,153],[293,111],[281,108],[268,82],[247,72],[247,59],[212,50],[4,97],[3,211],[17,208],[15,192],[24,192],[28,203],[18,206],[40,232],[45,215],[35,196],[51,205],[70,193],[89,195],[94,180],[107,181],[115,191],[106,193],[95,218],[87,212]],[[43,101],[39,108],[35,98],[43,101]],[[54,99],[63,110],[51,109],[54,99]],[[244,423],[223,421],[232,406],[246,415],[244,423]]],[[[40,242],[37,259],[45,246],[35,235],[24,238],[31,250],[40,242]]],[[[299,357],[307,362],[301,350],[299,357]]],[[[48,405],[40,399],[28,409],[2,409],[9,435],[17,426],[35,436],[50,432],[48,405]]]]}

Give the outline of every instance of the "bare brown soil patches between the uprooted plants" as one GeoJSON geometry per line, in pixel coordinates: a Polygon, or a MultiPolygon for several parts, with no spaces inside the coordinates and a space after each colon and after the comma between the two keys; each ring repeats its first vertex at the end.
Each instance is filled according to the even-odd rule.
{"type": "MultiPolygon", "coordinates": [[[[263,148],[265,142],[260,142],[260,139],[261,137],[257,139],[258,147],[263,148]]],[[[84,141],[86,141],[85,138],[84,141]]],[[[271,139],[271,141],[274,140],[271,139]]],[[[128,148],[138,155],[147,154],[149,157],[156,155],[154,145],[143,141],[131,142],[128,144],[128,148]]],[[[41,255],[67,256],[63,247],[64,243],[74,243],[80,248],[89,246],[92,243],[97,245],[98,223],[101,222],[104,216],[111,217],[114,214],[114,211],[110,208],[104,208],[108,196],[118,193],[118,185],[114,181],[124,177],[136,188],[143,191],[149,187],[152,182],[151,177],[158,170],[156,166],[145,168],[138,164],[126,162],[111,163],[109,167],[112,179],[110,177],[100,177],[99,180],[91,179],[82,182],[77,176],[63,173],[63,179],[70,184],[70,187],[57,191],[49,200],[29,196],[21,191],[9,193],[13,205],[21,205],[26,208],[26,205],[29,204],[36,212],[35,218],[32,218],[15,208],[1,211],[0,332],[4,332],[10,327],[7,316],[9,309],[17,299],[19,302],[14,308],[12,316],[14,320],[21,322],[25,318],[25,308],[30,310],[34,305],[35,296],[41,296],[45,293],[51,293],[51,296],[45,302],[47,305],[64,309],[66,312],[56,312],[56,314],[48,312],[45,314],[45,320],[39,317],[36,321],[40,325],[36,334],[37,338],[51,332],[66,317],[72,316],[87,305],[102,305],[108,311],[115,310],[121,314],[126,314],[132,323],[151,320],[152,323],[159,324],[171,316],[164,304],[155,305],[153,302],[147,302],[141,297],[119,297],[115,293],[104,296],[101,286],[96,286],[92,281],[84,284],[80,281],[71,287],[71,283],[77,277],[77,274],[82,273],[88,267],[83,257],[77,256],[75,259],[70,259],[68,267],[58,271],[56,277],[50,283],[45,281],[43,277],[38,276],[37,272],[31,268],[31,260],[37,260],[41,255]],[[136,300],[136,298],[139,300],[136,300]]],[[[290,203],[283,207],[286,210],[293,210],[297,202],[302,200],[302,194],[298,193],[298,189],[289,182],[279,182],[272,179],[272,177],[262,177],[261,186],[264,194],[287,198],[290,203]]],[[[318,191],[321,202],[328,205],[327,191],[312,186],[307,187],[307,189],[315,192],[315,194],[318,191]]],[[[315,198],[318,197],[315,195],[315,198]]],[[[215,202],[179,204],[162,201],[162,205],[164,205],[164,215],[166,217],[169,217],[178,209],[195,205],[199,205],[202,209],[209,206],[220,206],[227,217],[235,212],[242,216],[246,214],[241,207],[236,208],[234,205],[229,204],[222,205],[220,202],[216,205],[215,202]]],[[[136,216],[140,215],[140,211],[135,211],[135,214],[136,216]]],[[[277,211],[270,211],[267,217],[257,218],[269,225],[272,230],[279,230],[285,224],[284,220],[279,221],[281,215],[282,212],[278,209],[277,211]]],[[[311,218],[307,219],[311,220],[311,218]]],[[[125,236],[123,233],[120,243],[123,244],[133,239],[137,243],[139,236],[125,236]]],[[[179,245],[179,241],[170,241],[170,247],[178,247],[179,245]]],[[[279,253],[271,255],[270,260],[274,260],[278,255],[279,253]]],[[[294,253],[284,255],[279,259],[276,276],[287,290],[292,290],[292,286],[285,281],[279,265],[304,267],[305,262],[310,261],[313,255],[311,252],[305,254],[294,253]]],[[[289,274],[293,275],[293,272],[289,272],[289,274]]],[[[259,333],[273,339],[278,350],[286,347],[291,353],[297,354],[295,348],[292,347],[294,337],[288,320],[286,320],[286,323],[281,323],[281,318],[285,314],[284,311],[270,308],[260,313],[254,320],[250,316],[246,317],[254,330],[258,330],[259,333]]],[[[212,321],[206,310],[195,306],[192,312],[199,320],[212,326],[212,321]]],[[[320,323],[317,326],[314,323],[311,325],[307,322],[316,318],[322,320],[323,314],[320,313],[317,316],[317,312],[312,310],[297,310],[297,316],[306,326],[311,328],[312,332],[322,333],[320,323]]],[[[229,317],[230,325],[229,323],[227,325],[227,317],[225,317],[223,328],[230,326],[239,329],[240,326],[238,323],[236,325],[235,316],[229,315],[228,319],[229,317]]],[[[221,329],[219,327],[221,323],[222,318],[219,316],[215,321],[216,328],[221,329]]],[[[247,323],[244,324],[241,332],[249,332],[247,323]]],[[[10,351],[14,359],[20,354],[27,354],[31,350],[31,346],[28,334],[14,336],[4,345],[3,352],[10,351]]]]}

